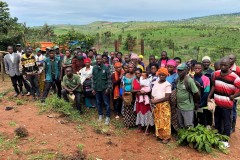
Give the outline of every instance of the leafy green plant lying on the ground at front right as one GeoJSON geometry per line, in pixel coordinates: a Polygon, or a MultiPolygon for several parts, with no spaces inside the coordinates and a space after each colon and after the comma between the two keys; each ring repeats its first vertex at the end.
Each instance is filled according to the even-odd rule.
{"type": "Polygon", "coordinates": [[[199,152],[210,153],[215,148],[227,154],[228,150],[224,147],[223,141],[228,140],[228,136],[219,134],[217,130],[197,125],[194,128],[179,130],[177,142],[179,145],[189,145],[199,152]]]}

